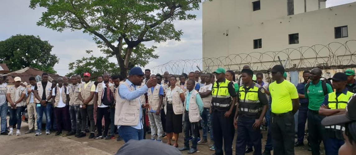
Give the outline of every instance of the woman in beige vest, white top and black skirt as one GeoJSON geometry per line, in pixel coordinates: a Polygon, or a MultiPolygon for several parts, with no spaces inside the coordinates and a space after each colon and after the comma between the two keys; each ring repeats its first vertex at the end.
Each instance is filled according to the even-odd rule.
{"type": "Polygon", "coordinates": [[[171,87],[166,90],[167,106],[166,111],[166,132],[167,144],[171,145],[172,134],[176,138],[173,146],[178,147],[179,133],[182,133],[183,102],[185,100],[184,92],[176,86],[177,79],[172,76],[169,79],[171,87]]]}

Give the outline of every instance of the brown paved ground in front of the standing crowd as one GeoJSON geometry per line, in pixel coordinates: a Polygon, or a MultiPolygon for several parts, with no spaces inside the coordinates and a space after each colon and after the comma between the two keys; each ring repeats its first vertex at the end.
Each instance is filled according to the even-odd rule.
{"type": "MultiPolygon", "coordinates": [[[[54,133],[51,135],[43,134],[40,136],[34,136],[34,134],[24,134],[28,130],[27,123],[22,123],[21,133],[22,135],[8,136],[0,135],[0,146],[1,146],[1,155],[17,155],[17,154],[26,154],[26,155],[38,155],[38,154],[47,154],[47,155],[68,155],[68,154],[81,154],[81,155],[106,155],[106,154],[115,154],[116,151],[124,144],[123,141],[117,142],[116,139],[112,140],[98,140],[98,139],[88,139],[76,138],[74,136],[55,136],[54,133]]],[[[64,131],[63,133],[67,133],[64,131]]],[[[150,135],[147,135],[149,138],[150,135]]],[[[236,136],[235,136],[236,138],[236,136]]],[[[166,142],[163,140],[163,142],[166,142]]],[[[266,132],[263,132],[262,147],[266,143],[266,132]]],[[[178,140],[179,146],[183,146],[183,134],[180,134],[178,140]]],[[[305,147],[295,148],[296,155],[305,155],[311,154],[305,147]]],[[[209,150],[208,144],[198,145],[198,153],[196,155],[210,155],[214,151],[209,150]]],[[[321,148],[321,150],[324,150],[321,148]]],[[[235,144],[234,144],[235,151],[235,144]]],[[[183,154],[187,154],[187,151],[183,151],[183,154]]],[[[322,153],[323,154],[323,153],[322,153]]],[[[247,154],[252,155],[252,153],[247,154]]]]}

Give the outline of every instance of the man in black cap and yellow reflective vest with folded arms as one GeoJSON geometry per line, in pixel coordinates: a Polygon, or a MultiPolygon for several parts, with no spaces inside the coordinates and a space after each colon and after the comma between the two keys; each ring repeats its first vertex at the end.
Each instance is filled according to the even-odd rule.
{"type": "MultiPolygon", "coordinates": [[[[347,91],[347,75],[339,72],[335,73],[333,78],[330,79],[333,80],[333,88],[336,91],[325,95],[324,103],[319,109],[319,114],[324,116],[345,114],[347,102],[354,95],[347,91]]],[[[325,131],[325,154],[337,155],[339,148],[344,144],[342,132],[345,131],[345,127],[340,125],[325,126],[325,131]]]]}

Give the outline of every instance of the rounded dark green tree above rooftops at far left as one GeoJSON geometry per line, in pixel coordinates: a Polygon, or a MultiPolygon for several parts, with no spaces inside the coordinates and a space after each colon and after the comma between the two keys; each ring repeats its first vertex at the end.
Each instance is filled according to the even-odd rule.
{"type": "Polygon", "coordinates": [[[53,46],[33,35],[14,35],[0,41],[0,63],[6,63],[11,71],[34,67],[55,74],[53,66],[58,63],[51,54],[53,46]]]}

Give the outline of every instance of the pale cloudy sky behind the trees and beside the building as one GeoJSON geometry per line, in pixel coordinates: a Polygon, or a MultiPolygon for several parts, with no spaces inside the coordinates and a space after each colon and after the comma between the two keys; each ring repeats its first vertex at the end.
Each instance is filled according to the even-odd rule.
{"type": "MultiPolygon", "coordinates": [[[[327,0],[326,7],[354,1],[356,0],[327,0]]],[[[94,56],[103,56],[88,34],[83,34],[81,31],[59,33],[46,27],[37,26],[36,22],[44,9],[32,10],[28,6],[29,0],[0,0],[0,40],[5,40],[16,34],[39,35],[42,40],[48,40],[54,46],[52,53],[60,59],[59,63],[54,66],[59,75],[65,75],[69,72],[69,62],[88,56],[85,50],[93,50],[94,56]]],[[[159,59],[152,60],[145,68],[161,65],[170,60],[201,58],[202,13],[201,10],[193,13],[197,15],[196,20],[175,22],[176,28],[182,29],[184,32],[181,41],[170,40],[155,44],[158,46],[156,53],[159,55],[159,59]],[[172,56],[172,54],[174,55],[172,56]]],[[[146,45],[152,44],[146,43],[146,45]]],[[[115,60],[111,61],[115,62],[115,60]]]]}

